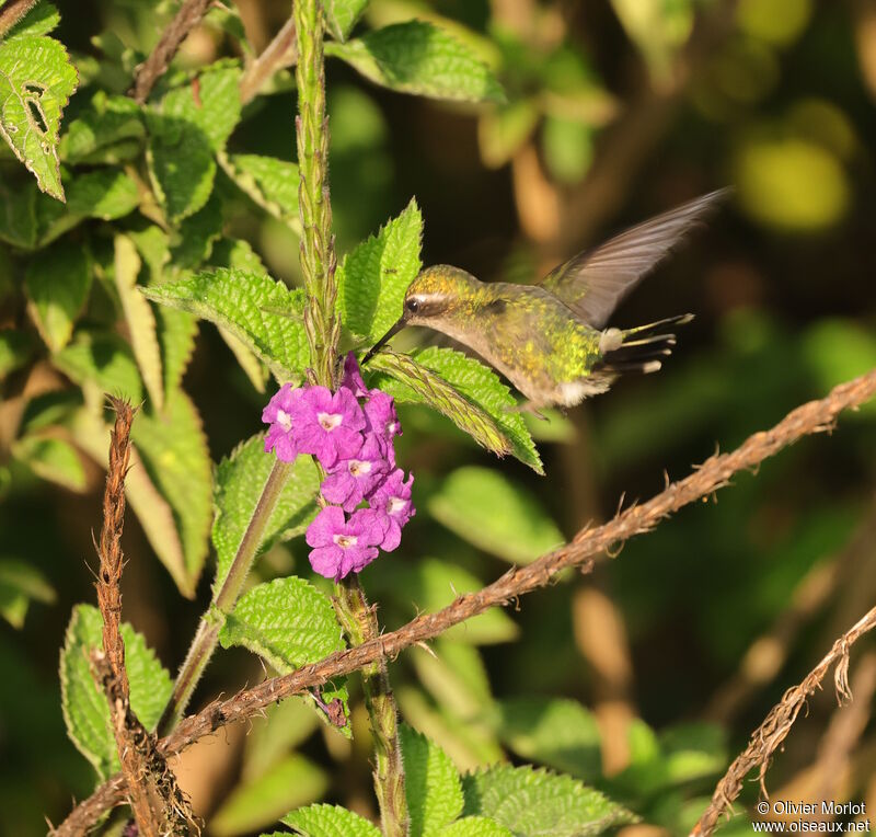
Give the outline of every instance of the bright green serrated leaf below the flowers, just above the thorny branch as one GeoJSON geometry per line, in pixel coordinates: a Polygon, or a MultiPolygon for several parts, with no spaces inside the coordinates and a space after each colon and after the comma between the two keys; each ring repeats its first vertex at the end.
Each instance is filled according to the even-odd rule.
{"type": "Polygon", "coordinates": [[[295,575],[244,593],[226,619],[219,642],[224,649],[249,649],[280,674],[346,647],[331,599],[295,575]]]}

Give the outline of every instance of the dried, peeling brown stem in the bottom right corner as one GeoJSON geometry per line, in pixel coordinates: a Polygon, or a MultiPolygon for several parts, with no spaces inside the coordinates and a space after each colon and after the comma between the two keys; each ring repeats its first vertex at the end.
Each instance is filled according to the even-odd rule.
{"type": "Polygon", "coordinates": [[[834,664],[837,667],[833,673],[833,683],[837,689],[837,699],[841,703],[851,700],[852,695],[849,690],[849,650],[854,642],[874,628],[876,628],[876,607],[867,611],[865,616],[840,637],[833,643],[830,652],[809,672],[803,683],[788,689],[782,700],[770,710],[763,723],[751,733],[751,741],[746,749],[736,758],[724,775],[724,778],[717,783],[715,792],[712,794],[712,802],[693,827],[691,837],[707,837],[715,830],[721,815],[729,811],[734,800],[742,791],[745,778],[756,767],[760,768],[761,793],[764,798],[766,796],[764,777],[770,768],[773,754],[791,732],[797,715],[806,706],[806,699],[816,689],[821,688],[821,681],[834,664]]]}

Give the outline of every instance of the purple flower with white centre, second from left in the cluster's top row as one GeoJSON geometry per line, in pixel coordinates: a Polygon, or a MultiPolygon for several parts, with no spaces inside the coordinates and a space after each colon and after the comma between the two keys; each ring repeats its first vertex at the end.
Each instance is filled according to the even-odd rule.
{"type": "Polygon", "coordinates": [[[356,456],[362,446],[365,415],[345,387],[334,394],[325,387],[296,390],[291,416],[298,451],[312,454],[324,468],[356,456]]]}

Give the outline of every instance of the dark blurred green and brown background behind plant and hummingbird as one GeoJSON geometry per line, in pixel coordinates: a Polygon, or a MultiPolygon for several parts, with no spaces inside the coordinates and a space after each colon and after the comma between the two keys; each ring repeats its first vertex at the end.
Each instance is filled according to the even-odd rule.
{"type": "MultiPolygon", "coordinates": [[[[238,5],[256,50],[289,11],[275,0],[238,5]]],[[[81,0],[74,13],[61,8],[57,35],[74,55],[96,55],[90,38],[108,26],[146,49],[172,9],[81,0]]],[[[472,44],[508,101],[405,98],[330,64],[341,254],[416,195],[426,264],[529,282],[689,197],[727,184],[736,192],[613,319],[695,312],[675,356],[659,375],[534,423],[545,478],[495,461],[425,410],[403,413],[399,458],[416,474],[418,514],[400,550],[362,575],[387,629],[610,517],[622,495],[647,498],[664,486],[664,470],[683,477],[716,445],[730,449],[876,366],[876,7],[372,0],[366,23],[413,16],[472,44]]],[[[182,60],[229,51],[204,26],[182,60]]],[[[292,159],[293,107],[293,92],[260,99],[231,150],[292,159]]],[[[66,118],[76,108],[74,98],[66,118]]],[[[228,200],[239,203],[234,233],[273,275],[296,283],[295,236],[230,190],[228,200]]],[[[0,317],[14,318],[13,307],[0,302],[0,317]]],[[[69,490],[12,456],[10,416],[39,390],[38,374],[25,381],[16,372],[0,404],[3,572],[20,562],[42,577],[30,607],[0,577],[0,830],[10,835],[43,833],[44,815],[57,823],[71,794],[93,787],[65,734],[57,663],[71,607],[94,598],[87,562],[95,562],[102,471],[83,458],[69,490]]],[[[265,397],[206,324],[185,388],[215,460],[258,431],[265,397]]],[[[685,833],[750,731],[873,604],[875,420],[875,405],[843,416],[831,437],[802,442],[757,477],[740,474],[715,502],[683,509],[591,576],[570,575],[519,609],[457,629],[435,643],[437,657],[406,652],[391,667],[405,719],[462,768],[503,754],[561,768],[642,814],[646,825],[627,835],[685,833]],[[563,746],[557,731],[567,733],[563,746]]],[[[254,581],[309,573],[302,546],[274,549],[254,581]]],[[[189,601],[132,515],[125,549],[125,617],[175,670],[209,599],[209,569],[189,601]]],[[[775,759],[774,796],[863,800],[876,811],[873,644],[860,643],[852,661],[854,734],[838,731],[827,686],[775,759]]],[[[195,702],[262,677],[249,654],[222,652],[195,702]]],[[[230,729],[183,758],[207,833],[257,833],[272,804],[276,815],[314,799],[373,814],[360,709],[351,745],[318,730],[293,701],[276,714],[270,735],[262,721],[249,736],[230,729]]],[[[756,783],[746,794],[752,802],[756,783]]]]}

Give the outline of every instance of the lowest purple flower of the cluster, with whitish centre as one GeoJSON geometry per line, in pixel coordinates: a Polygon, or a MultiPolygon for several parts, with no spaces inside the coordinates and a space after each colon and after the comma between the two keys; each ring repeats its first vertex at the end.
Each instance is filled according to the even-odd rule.
{"type": "Polygon", "coordinates": [[[370,508],[354,512],[349,519],[339,506],[326,506],[308,527],[306,540],[313,547],[310,565],[326,578],[341,581],[360,572],[377,558],[384,538],[380,515],[370,508]]]}

